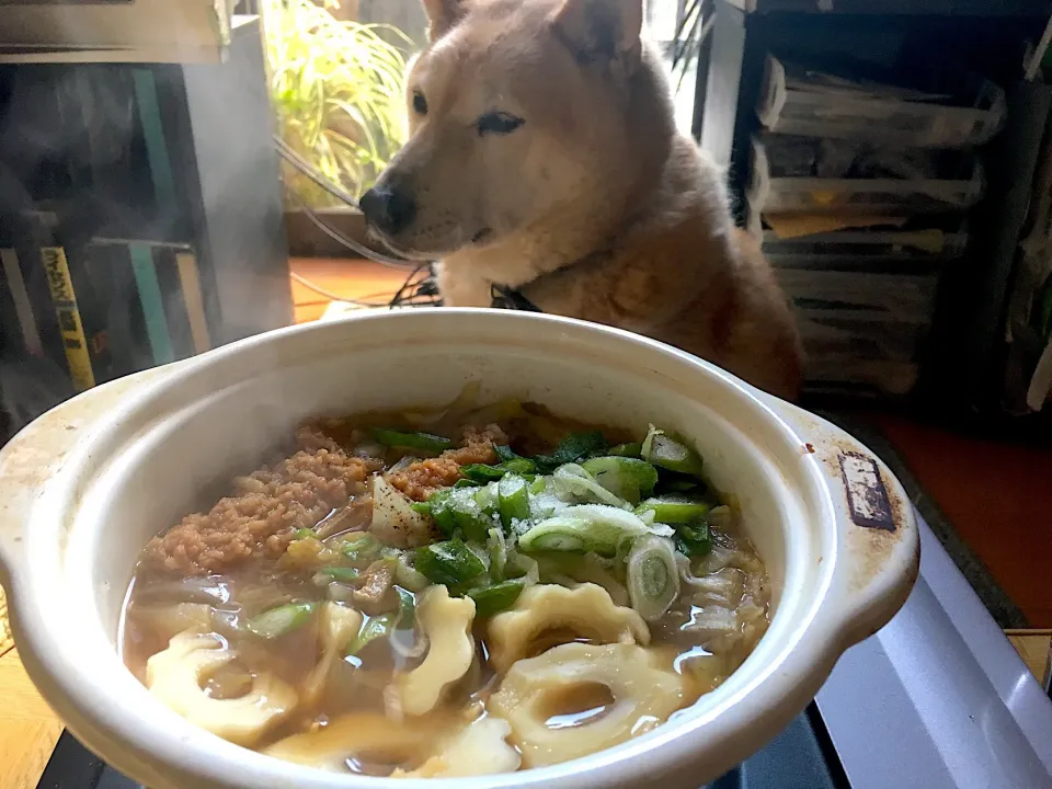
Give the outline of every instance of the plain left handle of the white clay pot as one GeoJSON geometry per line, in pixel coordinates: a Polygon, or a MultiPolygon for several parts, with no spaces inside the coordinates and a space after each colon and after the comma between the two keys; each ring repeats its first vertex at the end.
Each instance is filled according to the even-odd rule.
{"type": "Polygon", "coordinates": [[[34,503],[66,456],[119,400],[179,363],[153,367],[81,392],[45,412],[0,449],[0,583],[15,596],[34,503]]]}

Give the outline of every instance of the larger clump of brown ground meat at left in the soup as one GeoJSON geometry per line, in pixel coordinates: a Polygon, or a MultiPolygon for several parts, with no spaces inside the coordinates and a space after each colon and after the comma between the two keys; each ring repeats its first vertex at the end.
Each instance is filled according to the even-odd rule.
{"type": "Polygon", "coordinates": [[[239,478],[239,493],[187,515],[146,547],[145,561],[186,575],[222,572],[252,557],[279,557],[296,529],[312,528],[366,491],[376,465],[350,457],[332,439],[297,432],[304,447],[273,468],[239,478]]]}

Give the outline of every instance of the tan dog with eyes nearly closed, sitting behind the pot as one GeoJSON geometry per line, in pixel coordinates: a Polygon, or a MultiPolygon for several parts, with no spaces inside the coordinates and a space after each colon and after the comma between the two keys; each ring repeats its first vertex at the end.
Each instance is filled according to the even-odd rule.
{"type": "Polygon", "coordinates": [[[781,397],[800,342],[723,176],[673,121],[642,0],[424,0],[411,136],[362,206],[441,261],[449,306],[518,288],[546,312],[663,340],[781,397]]]}

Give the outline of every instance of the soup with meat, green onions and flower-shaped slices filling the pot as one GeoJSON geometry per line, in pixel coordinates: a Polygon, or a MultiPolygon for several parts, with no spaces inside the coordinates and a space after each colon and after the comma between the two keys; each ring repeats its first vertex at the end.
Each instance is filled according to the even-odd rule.
{"type": "Polygon", "coordinates": [[[153,538],[123,621],[150,693],[290,762],[465,776],[616,745],[723,682],[767,573],[689,442],[471,396],[306,424],[153,538]]]}

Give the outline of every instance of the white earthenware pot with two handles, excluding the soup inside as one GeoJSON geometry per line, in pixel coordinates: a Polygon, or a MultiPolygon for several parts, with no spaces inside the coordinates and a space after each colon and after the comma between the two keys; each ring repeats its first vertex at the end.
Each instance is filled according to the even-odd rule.
{"type": "Polygon", "coordinates": [[[0,580],[19,652],[88,747],[151,789],[663,786],[695,789],[763,747],[839,654],[887,622],[918,564],[899,482],[833,425],[700,359],[617,330],[510,311],[408,310],[250,338],[90,390],[0,453],[0,580]],[[396,780],[284,763],[205,732],[121,660],[137,554],[259,466],[305,418],[482,401],[693,438],[735,494],[774,587],[770,628],[719,688],[655,731],[542,769],[396,780]]]}

